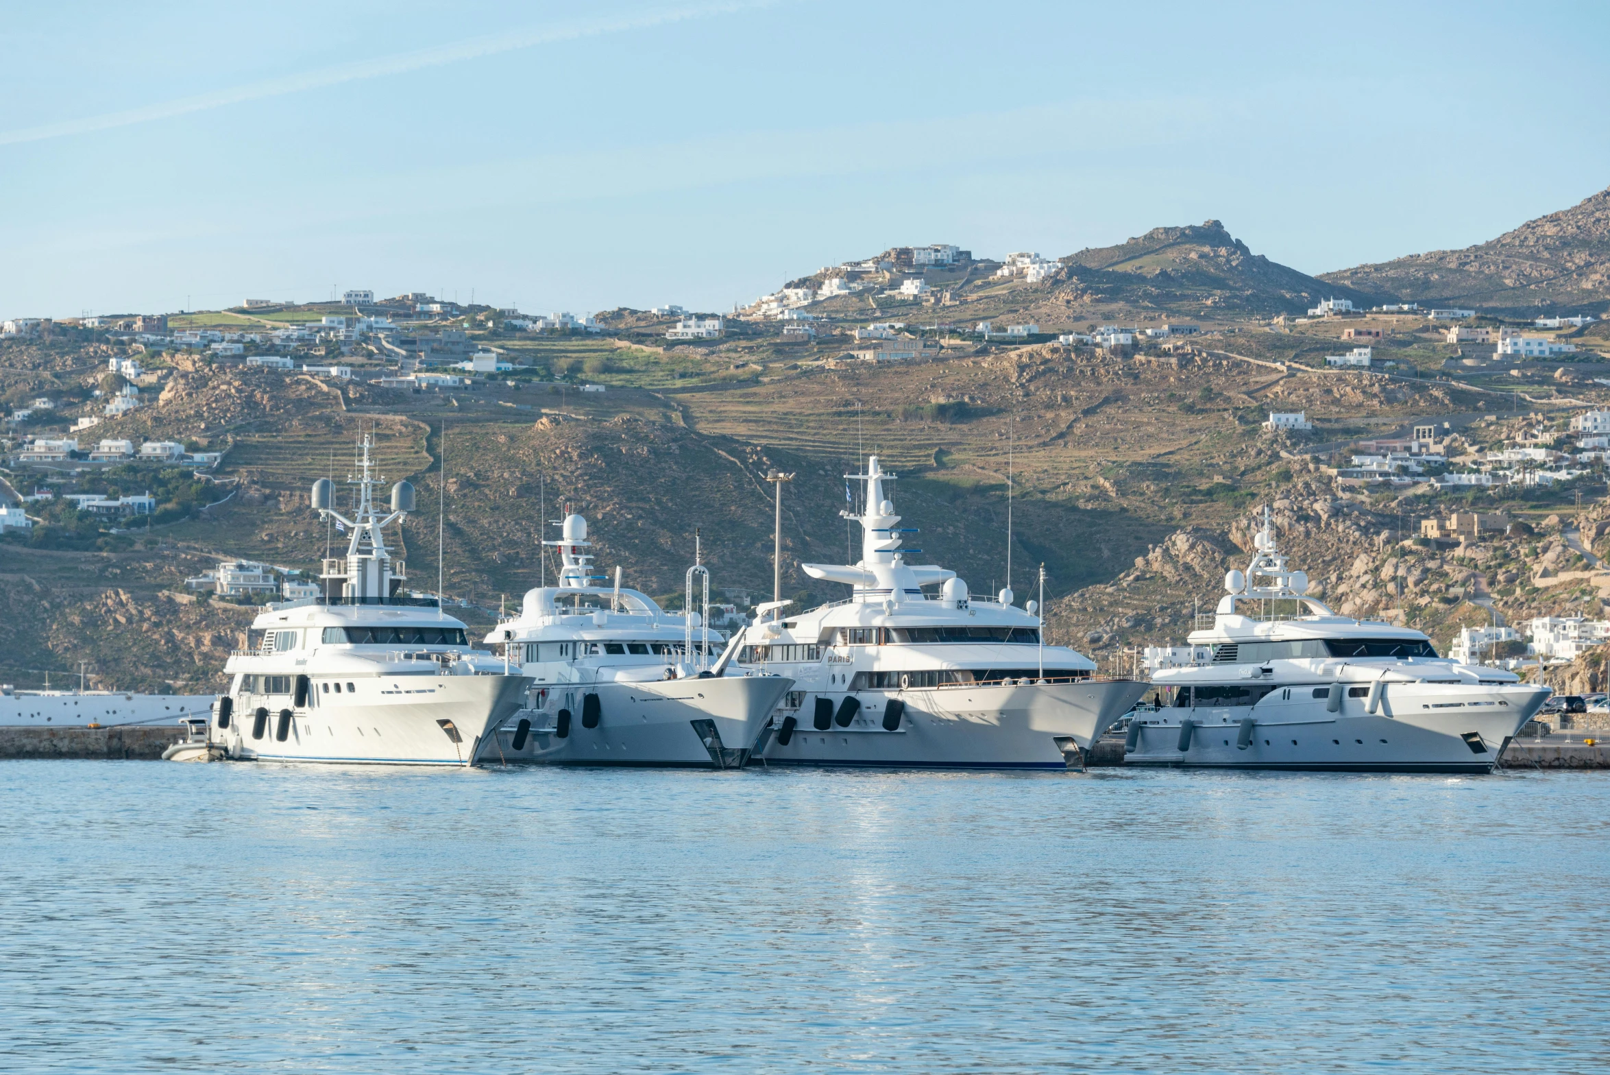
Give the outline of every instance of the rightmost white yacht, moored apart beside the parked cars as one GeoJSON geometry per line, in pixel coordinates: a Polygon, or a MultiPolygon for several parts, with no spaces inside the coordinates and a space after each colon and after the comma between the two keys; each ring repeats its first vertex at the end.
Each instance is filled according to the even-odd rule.
{"type": "Polygon", "coordinates": [[[1497,668],[1436,655],[1420,631],[1304,597],[1269,512],[1212,626],[1148,650],[1154,706],[1129,724],[1129,764],[1488,772],[1549,697],[1497,668]],[[1259,581],[1264,579],[1264,581],[1259,581]]]}

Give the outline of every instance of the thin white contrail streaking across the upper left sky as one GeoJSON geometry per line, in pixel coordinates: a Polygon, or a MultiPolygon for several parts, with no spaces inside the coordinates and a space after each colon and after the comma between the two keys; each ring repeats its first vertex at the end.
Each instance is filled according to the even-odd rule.
{"type": "Polygon", "coordinates": [[[533,48],[536,45],[554,45],[559,42],[580,40],[583,37],[602,37],[605,34],[641,31],[654,26],[665,26],[668,23],[686,23],[691,19],[704,19],[715,14],[731,14],[734,11],[766,8],[773,6],[773,3],[776,3],[776,0],[712,3],[691,8],[673,8],[668,11],[654,11],[649,14],[636,14],[636,16],[626,16],[597,23],[576,23],[570,26],[543,27],[543,29],[530,27],[522,31],[509,31],[502,34],[488,34],[485,37],[470,37],[467,40],[454,42],[451,45],[438,45],[436,48],[420,48],[417,51],[396,53],[394,56],[378,56],[375,60],[359,60],[356,63],[343,63],[343,64],[335,64],[332,68],[319,68],[317,71],[287,74],[279,79],[248,82],[246,85],[237,85],[227,90],[198,93],[196,97],[180,97],[172,101],[161,101],[158,105],[147,105],[143,108],[130,108],[121,113],[105,113],[100,116],[85,116],[82,119],[64,119],[61,122],[43,124],[40,127],[21,127],[18,130],[3,130],[0,132],[0,145],[16,145],[19,142],[43,142],[45,138],[63,138],[68,135],[92,134],[95,130],[129,127],[132,124],[143,124],[156,119],[171,119],[172,116],[184,116],[187,113],[201,113],[211,108],[240,105],[242,101],[258,101],[266,97],[301,93],[304,90],[317,90],[325,85],[340,85],[341,82],[357,82],[359,79],[374,79],[386,74],[406,74],[409,71],[419,71],[422,68],[440,68],[443,64],[459,63],[462,60],[496,56],[497,53],[515,51],[520,48],[533,48]]]}

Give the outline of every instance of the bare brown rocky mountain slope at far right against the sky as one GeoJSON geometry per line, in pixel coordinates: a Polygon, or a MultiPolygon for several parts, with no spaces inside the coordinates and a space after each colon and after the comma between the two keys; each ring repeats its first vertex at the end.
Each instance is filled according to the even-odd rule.
{"type": "Polygon", "coordinates": [[[1610,190],[1465,249],[1436,249],[1320,280],[1401,301],[1520,315],[1602,311],[1610,299],[1610,190]]]}

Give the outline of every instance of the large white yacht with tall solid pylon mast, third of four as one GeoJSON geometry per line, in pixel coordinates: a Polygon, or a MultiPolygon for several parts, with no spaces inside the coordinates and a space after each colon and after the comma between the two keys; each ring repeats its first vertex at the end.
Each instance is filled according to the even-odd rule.
{"type": "Polygon", "coordinates": [[[974,599],[955,571],[906,563],[900,534],[914,531],[898,526],[876,455],[845,476],[866,483],[866,513],[845,513],[861,525],[861,560],[800,566],[850,599],[786,620],[771,602],[776,618],[742,636],[741,663],[797,681],[773,715],[768,763],[1066,769],[1145,692],[1045,645],[1038,607],[1018,608],[1011,589],[974,599]]]}

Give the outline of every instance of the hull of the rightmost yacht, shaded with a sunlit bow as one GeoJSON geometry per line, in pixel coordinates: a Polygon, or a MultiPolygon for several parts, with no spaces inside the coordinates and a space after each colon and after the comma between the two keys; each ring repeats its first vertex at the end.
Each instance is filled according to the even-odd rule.
{"type": "Polygon", "coordinates": [[[1348,698],[1338,713],[1314,698],[1249,710],[1138,713],[1141,724],[1124,761],[1211,769],[1491,772],[1549,690],[1505,684],[1460,687],[1454,697],[1438,684],[1393,682],[1377,713],[1359,698],[1348,698]],[[1182,719],[1195,723],[1188,739],[1182,719]],[[1246,719],[1253,726],[1243,735],[1246,719]]]}

